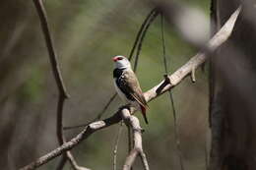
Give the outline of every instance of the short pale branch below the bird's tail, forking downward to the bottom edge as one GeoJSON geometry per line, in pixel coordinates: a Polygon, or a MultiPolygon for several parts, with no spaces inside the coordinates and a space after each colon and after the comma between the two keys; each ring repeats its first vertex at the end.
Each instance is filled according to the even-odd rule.
{"type": "Polygon", "coordinates": [[[133,132],[133,141],[134,147],[130,151],[129,155],[126,157],[125,163],[123,165],[123,170],[130,170],[134,160],[136,159],[137,155],[139,154],[142,158],[142,162],[144,165],[145,170],[149,170],[148,160],[146,155],[143,151],[142,146],[142,128],[140,126],[140,121],[137,117],[132,116],[130,111],[127,109],[123,109],[122,119],[124,120],[125,124],[132,128],[133,132]]]}

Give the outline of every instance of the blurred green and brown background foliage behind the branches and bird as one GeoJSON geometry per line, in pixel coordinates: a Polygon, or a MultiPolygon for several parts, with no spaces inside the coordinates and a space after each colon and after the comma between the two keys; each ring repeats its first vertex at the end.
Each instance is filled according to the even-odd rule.
{"type": "MultiPolygon", "coordinates": [[[[210,1],[184,0],[210,19],[210,1]]],[[[152,10],[130,0],[45,1],[49,27],[67,90],[64,125],[93,120],[115,89],[112,84],[115,55],[128,56],[142,22],[152,10]]],[[[0,167],[15,170],[58,146],[56,105],[58,90],[32,1],[3,0],[0,6],[0,167]]],[[[210,25],[210,22],[209,22],[210,25]]],[[[197,49],[165,25],[169,74],[189,60],[197,49]]],[[[158,85],[164,74],[160,17],[146,35],[137,76],[144,91],[158,85]]],[[[185,169],[206,169],[209,145],[208,74],[198,70],[197,82],[185,79],[173,88],[181,152],[185,169]]],[[[103,118],[121,105],[115,98],[103,118]]],[[[152,101],[149,125],[141,121],[144,150],[151,169],[180,169],[174,139],[173,116],[167,93],[152,101]]],[[[143,120],[141,114],[136,114],[143,120]]],[[[95,170],[110,170],[119,125],[97,132],[72,152],[78,163],[95,170]]],[[[67,139],[82,129],[65,131],[67,139]]],[[[124,129],[117,153],[117,169],[127,155],[124,129]]],[[[39,169],[55,169],[55,158],[39,169]]],[[[139,160],[139,159],[138,159],[139,160]]],[[[135,169],[142,169],[136,160],[135,169]],[[137,168],[138,167],[138,168],[137,168]]],[[[65,169],[70,169],[67,163],[65,169]]]]}

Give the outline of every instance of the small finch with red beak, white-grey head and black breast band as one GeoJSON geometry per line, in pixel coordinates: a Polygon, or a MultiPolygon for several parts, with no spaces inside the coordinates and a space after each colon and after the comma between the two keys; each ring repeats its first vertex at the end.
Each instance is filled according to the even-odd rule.
{"type": "Polygon", "coordinates": [[[146,115],[148,105],[130,61],[121,55],[113,57],[112,60],[114,62],[113,79],[116,92],[125,103],[140,109],[146,124],[149,124],[146,115]]]}

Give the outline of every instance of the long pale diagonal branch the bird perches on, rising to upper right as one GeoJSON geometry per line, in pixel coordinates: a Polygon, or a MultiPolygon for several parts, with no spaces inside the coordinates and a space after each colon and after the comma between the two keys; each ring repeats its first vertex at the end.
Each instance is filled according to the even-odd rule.
{"type": "MultiPolygon", "coordinates": [[[[240,7],[231,15],[228,21],[224,24],[224,27],[221,28],[214,37],[209,41],[207,47],[214,51],[218,47],[220,47],[224,41],[229,37],[232,32],[233,26],[237,19],[237,16],[240,13],[240,7]]],[[[193,70],[193,68],[197,69],[201,64],[203,64],[207,59],[206,53],[200,52],[192,57],[185,65],[179,68],[176,72],[172,75],[168,76],[166,81],[162,81],[159,85],[154,86],[150,90],[144,93],[147,102],[157,98],[160,94],[164,93],[165,91],[171,89],[175,85],[178,85],[185,77],[189,76],[193,70]],[[170,84],[166,84],[169,81],[170,84]]],[[[130,114],[134,113],[136,110],[134,108],[130,108],[130,114]]],[[[48,161],[52,160],[53,158],[59,156],[64,151],[72,149],[74,146],[86,140],[96,131],[107,128],[108,126],[114,125],[122,120],[122,114],[124,109],[119,109],[113,116],[102,120],[96,121],[91,123],[85,130],[83,130],[80,134],[78,134],[74,139],[69,142],[63,143],[61,146],[55,148],[54,150],[48,152],[47,154],[37,158],[29,165],[21,168],[21,170],[32,170],[35,169],[48,161]]]]}

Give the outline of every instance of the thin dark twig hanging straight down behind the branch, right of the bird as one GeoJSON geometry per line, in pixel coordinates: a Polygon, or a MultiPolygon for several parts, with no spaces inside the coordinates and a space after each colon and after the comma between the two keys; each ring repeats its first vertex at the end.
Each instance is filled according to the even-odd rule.
{"type": "MultiPolygon", "coordinates": [[[[165,72],[165,75],[167,75],[168,69],[167,69],[167,59],[166,59],[166,50],[165,50],[164,21],[163,21],[162,15],[160,15],[160,26],[161,26],[161,41],[162,41],[162,58],[163,58],[164,72],[165,72]]],[[[195,69],[192,69],[191,73],[193,73],[194,71],[195,71],[195,69]]],[[[182,153],[181,153],[179,136],[178,136],[177,118],[176,118],[176,109],[175,109],[175,105],[174,105],[174,99],[173,99],[172,92],[170,90],[168,90],[168,94],[169,94],[169,99],[170,99],[172,114],[173,114],[174,139],[175,139],[175,143],[176,143],[176,147],[177,147],[180,169],[184,170],[182,153]]]]}

